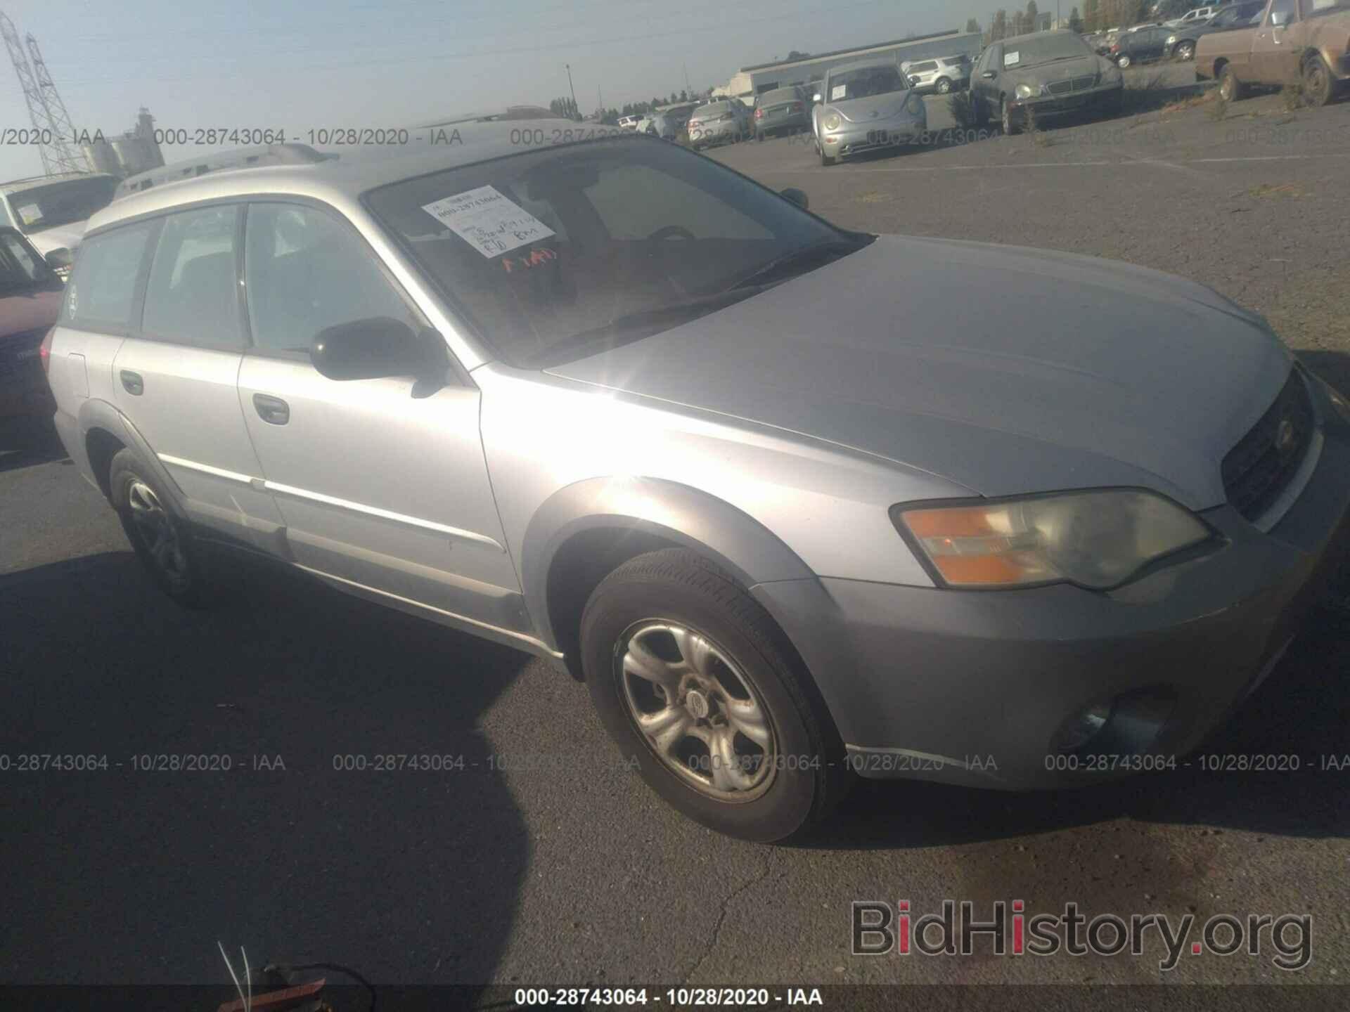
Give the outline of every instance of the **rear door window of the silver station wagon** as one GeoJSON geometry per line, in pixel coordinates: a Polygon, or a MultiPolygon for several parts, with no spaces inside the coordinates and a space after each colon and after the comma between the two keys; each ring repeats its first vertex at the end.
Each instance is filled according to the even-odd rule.
{"type": "Polygon", "coordinates": [[[236,206],[170,215],[159,232],[142,329],[204,348],[242,348],[235,291],[236,206]]]}

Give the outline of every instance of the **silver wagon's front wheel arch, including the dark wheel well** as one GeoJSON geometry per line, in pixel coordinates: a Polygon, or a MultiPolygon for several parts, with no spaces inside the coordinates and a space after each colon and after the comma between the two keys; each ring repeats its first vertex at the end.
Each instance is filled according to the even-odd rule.
{"type": "Polygon", "coordinates": [[[574,676],[586,599],[620,564],[659,548],[695,551],[747,591],[757,583],[814,576],[768,528],[707,493],[647,478],[576,482],[536,510],[520,551],[529,614],[540,638],[567,657],[574,676]]]}

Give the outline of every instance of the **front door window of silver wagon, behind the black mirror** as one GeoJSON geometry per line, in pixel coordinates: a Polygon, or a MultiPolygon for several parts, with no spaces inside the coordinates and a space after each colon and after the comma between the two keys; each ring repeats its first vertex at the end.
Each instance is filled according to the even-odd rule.
{"type": "Polygon", "coordinates": [[[252,204],[244,225],[244,293],[254,344],[305,352],[329,327],[418,321],[344,221],[300,204],[252,204]]]}

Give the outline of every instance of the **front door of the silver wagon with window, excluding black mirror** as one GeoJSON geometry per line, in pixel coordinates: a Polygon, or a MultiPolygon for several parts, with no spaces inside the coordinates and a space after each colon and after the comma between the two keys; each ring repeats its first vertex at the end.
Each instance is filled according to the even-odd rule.
{"type": "Polygon", "coordinates": [[[427,327],[335,212],[251,204],[244,248],[252,345],[239,402],[294,560],[396,602],[528,630],[487,479],[478,389],[467,375],[428,394],[412,378],[319,374],[308,348],[328,327],[370,317],[427,327]]]}

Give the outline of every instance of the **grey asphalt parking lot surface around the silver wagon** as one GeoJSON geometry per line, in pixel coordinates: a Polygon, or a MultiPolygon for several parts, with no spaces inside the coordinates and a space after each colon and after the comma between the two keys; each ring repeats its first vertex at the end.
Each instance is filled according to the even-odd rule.
{"type": "MultiPolygon", "coordinates": [[[[711,154],[849,228],[1200,281],[1350,391],[1350,103],[1265,96],[1218,119],[1185,65],[1129,78],[1153,97],[1104,123],[972,138],[929,99],[923,148],[829,169],[795,138],[711,154]]],[[[0,750],[108,760],[0,775],[7,981],[217,980],[217,938],[377,984],[1350,980],[1346,580],[1204,750],[1297,756],[1296,770],[1196,761],[1037,795],[861,783],[826,834],[765,847],[667,808],[617,761],[585,688],[524,654],[269,569],[224,609],[176,609],[50,430],[0,433],[0,750]],[[463,764],[338,768],[386,753],[463,764]],[[232,762],[139,768],[158,754],[232,762]],[[1157,939],[1114,958],[852,957],[849,904],[876,899],[1310,913],[1314,959],[1287,973],[1269,954],[1187,955],[1162,972],[1157,939]]]]}

